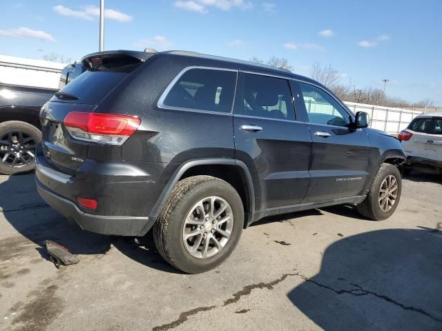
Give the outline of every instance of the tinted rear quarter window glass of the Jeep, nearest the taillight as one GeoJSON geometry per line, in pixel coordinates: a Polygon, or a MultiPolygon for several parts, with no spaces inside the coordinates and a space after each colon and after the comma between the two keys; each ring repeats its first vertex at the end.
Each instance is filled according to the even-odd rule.
{"type": "Polygon", "coordinates": [[[173,84],[163,105],[212,112],[231,112],[236,72],[190,69],[173,84]]]}

